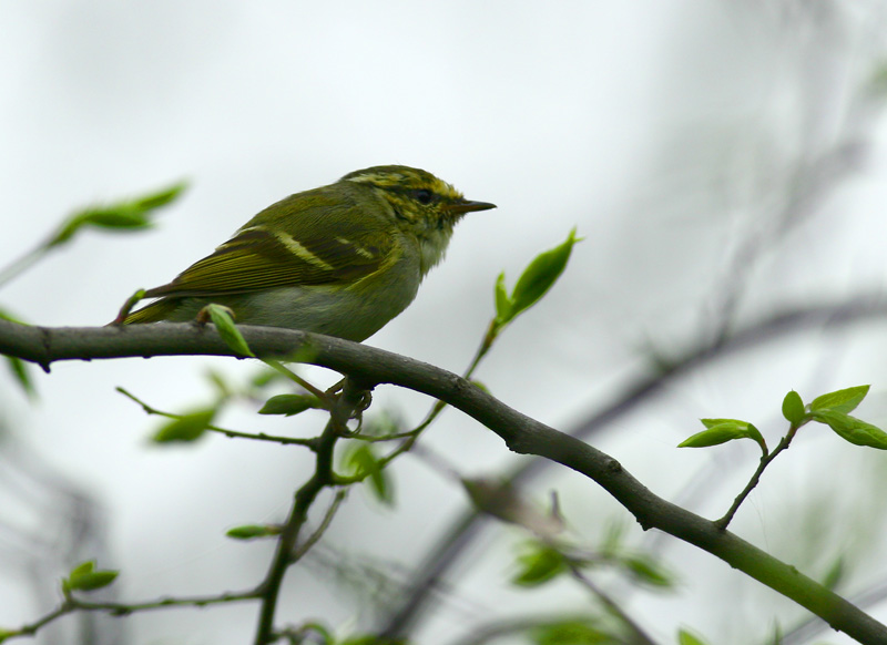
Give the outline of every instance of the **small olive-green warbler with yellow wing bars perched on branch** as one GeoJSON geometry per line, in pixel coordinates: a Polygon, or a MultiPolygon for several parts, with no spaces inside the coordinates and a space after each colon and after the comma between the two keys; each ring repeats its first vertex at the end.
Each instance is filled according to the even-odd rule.
{"type": "Polygon", "coordinates": [[[268,206],[215,253],[149,289],[145,297],[159,299],[123,324],[192,320],[216,303],[245,325],[364,340],[412,301],[462,215],[495,207],[418,168],[355,171],[268,206]]]}

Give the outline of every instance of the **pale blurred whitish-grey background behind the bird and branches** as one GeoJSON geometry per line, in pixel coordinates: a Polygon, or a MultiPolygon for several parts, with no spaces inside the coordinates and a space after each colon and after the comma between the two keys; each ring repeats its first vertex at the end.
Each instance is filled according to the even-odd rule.
{"type": "MultiPolygon", "coordinates": [[[[415,304],[368,344],[461,371],[499,272],[513,284],[577,226],[585,239],[562,279],[477,376],[520,411],[583,432],[656,494],[716,518],[759,451],[675,448],[699,418],[752,421],[775,444],[789,389],[809,401],[871,383],[859,416],[887,424],[886,19],[875,0],[8,0],[2,264],[75,207],[182,178],[190,188],[150,232],[88,232],[47,256],[0,291],[0,306],[39,325],[103,325],[136,288],[169,281],[290,193],[370,165],[422,167],[499,207],[459,225],[415,304]]],[[[109,597],[125,602],[261,579],[272,545],[224,532],[282,520],[308,455],[220,437],[155,447],[156,418],[114,391],[182,411],[212,401],[210,370],[245,381],[255,367],[57,364],[32,370],[33,399],[0,373],[0,626],[48,612],[58,577],[92,557],[122,571],[109,597]]],[[[336,376],[306,373],[320,385],[336,376]]],[[[429,405],[380,388],[373,410],[409,424],[429,405]]],[[[218,423],[310,436],[323,422],[254,412],[232,408],[218,423]]],[[[290,571],[281,624],[313,618],[340,634],[385,624],[396,603],[376,603],[390,597],[380,590],[435,562],[468,509],[435,460],[475,478],[526,461],[451,410],[420,443],[425,458],[392,469],[394,508],[354,491],[323,547],[290,571]]],[[[813,577],[840,563],[838,591],[885,621],[885,485],[887,455],[805,428],[732,529],[813,577]]],[[[578,540],[597,544],[621,521],[629,543],[679,574],[665,593],[612,590],[656,642],[686,626],[712,643],[765,643],[804,622],[714,557],[643,534],[584,478],[547,467],[522,488],[540,505],[552,491],[578,540]]],[[[510,587],[523,540],[492,521],[471,533],[414,616],[416,642],[587,611],[593,603],[567,583],[510,587]]],[[[78,615],[37,642],[242,644],[255,614],[239,604],[78,615]]],[[[815,625],[792,638],[849,642],[815,625]]]]}

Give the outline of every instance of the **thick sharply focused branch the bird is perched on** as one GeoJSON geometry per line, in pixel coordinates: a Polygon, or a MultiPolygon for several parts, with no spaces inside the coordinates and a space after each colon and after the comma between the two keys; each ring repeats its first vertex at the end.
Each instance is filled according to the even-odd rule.
{"type": "MultiPolygon", "coordinates": [[[[861,643],[887,643],[887,627],[756,546],[653,494],[610,455],[509,408],[455,373],[337,338],[271,327],[239,328],[257,356],[293,356],[364,383],[394,383],[446,401],[496,432],[518,453],[537,454],[593,479],[644,530],[659,529],[712,553],[794,600],[861,643]]],[[[29,327],[0,320],[0,354],[49,370],[57,360],[176,355],[232,356],[213,327],[139,325],[103,328],[29,327]]]]}

